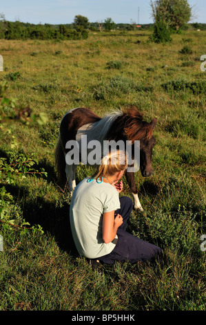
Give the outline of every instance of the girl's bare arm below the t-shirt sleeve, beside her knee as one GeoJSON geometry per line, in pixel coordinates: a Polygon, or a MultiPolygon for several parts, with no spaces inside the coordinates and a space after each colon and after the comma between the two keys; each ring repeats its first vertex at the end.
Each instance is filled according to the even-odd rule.
{"type": "Polygon", "coordinates": [[[117,214],[114,218],[114,211],[105,212],[103,214],[103,241],[110,243],[116,236],[116,231],[123,223],[123,218],[117,214]]]}

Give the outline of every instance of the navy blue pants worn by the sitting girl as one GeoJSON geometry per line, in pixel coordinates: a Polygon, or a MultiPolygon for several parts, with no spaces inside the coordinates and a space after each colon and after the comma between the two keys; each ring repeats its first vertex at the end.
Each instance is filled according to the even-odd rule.
{"type": "Polygon", "coordinates": [[[118,235],[116,246],[110,254],[99,257],[99,261],[107,264],[113,264],[114,261],[129,261],[130,263],[154,261],[155,257],[162,253],[161,248],[126,232],[133,203],[132,199],[127,196],[121,197],[120,203],[121,208],[116,210],[115,214],[120,214],[123,217],[123,224],[116,232],[118,235]]]}

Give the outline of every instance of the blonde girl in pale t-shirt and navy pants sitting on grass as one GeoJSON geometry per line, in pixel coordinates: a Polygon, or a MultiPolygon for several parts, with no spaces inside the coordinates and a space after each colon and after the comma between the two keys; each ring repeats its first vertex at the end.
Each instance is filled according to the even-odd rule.
{"type": "Polygon", "coordinates": [[[126,232],[133,203],[127,196],[119,198],[125,169],[125,152],[112,151],[102,158],[96,174],[84,178],[74,189],[70,224],[76,249],[83,257],[108,264],[136,263],[153,261],[162,252],[126,232]]]}

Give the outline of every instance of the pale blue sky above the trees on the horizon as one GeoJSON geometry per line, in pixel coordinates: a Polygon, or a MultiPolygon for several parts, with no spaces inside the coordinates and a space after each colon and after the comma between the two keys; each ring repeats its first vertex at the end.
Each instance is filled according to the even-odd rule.
{"type": "MultiPolygon", "coordinates": [[[[206,0],[189,0],[194,6],[194,22],[206,24],[206,0]]],[[[0,12],[9,21],[32,24],[70,24],[76,15],[83,15],[90,22],[104,21],[111,17],[117,23],[150,24],[150,0],[1,0],[0,12]]]]}

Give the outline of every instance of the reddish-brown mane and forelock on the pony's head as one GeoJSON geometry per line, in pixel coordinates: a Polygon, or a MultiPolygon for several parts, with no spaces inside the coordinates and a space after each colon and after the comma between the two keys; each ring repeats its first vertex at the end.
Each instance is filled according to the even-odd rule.
{"type": "Polygon", "coordinates": [[[136,107],[114,113],[116,120],[107,131],[107,139],[114,138],[114,135],[123,134],[127,140],[150,140],[153,136],[153,130],[150,123],[143,121],[143,113],[140,113],[136,107]]]}

